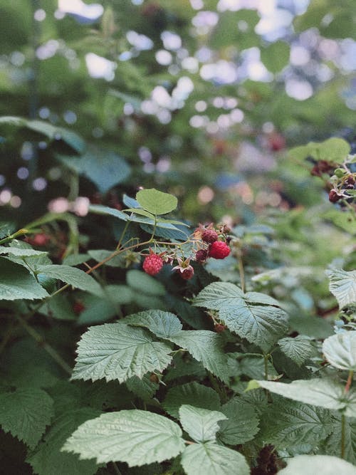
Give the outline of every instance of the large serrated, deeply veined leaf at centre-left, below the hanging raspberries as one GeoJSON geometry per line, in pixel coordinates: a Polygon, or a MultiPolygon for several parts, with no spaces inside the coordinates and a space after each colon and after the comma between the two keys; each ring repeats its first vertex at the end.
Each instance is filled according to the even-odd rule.
{"type": "Polygon", "coordinates": [[[122,323],[91,327],[78,343],[73,380],[119,380],[162,371],[169,365],[171,348],[156,342],[141,328],[122,323]]]}

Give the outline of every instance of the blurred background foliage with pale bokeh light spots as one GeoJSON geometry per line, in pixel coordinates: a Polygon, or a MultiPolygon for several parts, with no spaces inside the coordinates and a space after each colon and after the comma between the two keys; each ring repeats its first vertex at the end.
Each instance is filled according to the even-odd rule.
{"type": "Polygon", "coordinates": [[[2,221],[78,197],[120,209],[139,187],[193,222],[330,207],[286,150],[339,136],[356,151],[354,1],[11,0],[0,15],[0,115],[23,118],[0,122],[2,221]]]}

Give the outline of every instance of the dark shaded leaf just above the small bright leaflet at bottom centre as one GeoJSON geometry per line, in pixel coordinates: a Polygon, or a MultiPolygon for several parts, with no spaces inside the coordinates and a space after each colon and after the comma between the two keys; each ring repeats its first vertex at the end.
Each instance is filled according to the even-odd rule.
{"type": "Polygon", "coordinates": [[[185,385],[172,387],[162,402],[164,410],[173,417],[179,417],[179,407],[182,404],[209,409],[211,411],[220,409],[220,400],[217,393],[198,382],[187,382],[185,385]]]}

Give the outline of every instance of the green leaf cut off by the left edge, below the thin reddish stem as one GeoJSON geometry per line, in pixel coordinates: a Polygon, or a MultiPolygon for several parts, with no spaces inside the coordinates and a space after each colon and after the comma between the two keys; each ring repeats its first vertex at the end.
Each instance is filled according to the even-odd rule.
{"type": "Polygon", "coordinates": [[[48,297],[48,293],[26,268],[0,258],[0,300],[14,301],[19,298],[33,300],[48,297]]]}

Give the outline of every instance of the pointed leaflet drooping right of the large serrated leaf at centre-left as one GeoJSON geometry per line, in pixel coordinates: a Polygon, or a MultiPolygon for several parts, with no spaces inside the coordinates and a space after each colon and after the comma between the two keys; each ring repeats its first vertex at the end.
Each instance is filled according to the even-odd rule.
{"type": "Polygon", "coordinates": [[[220,335],[209,330],[182,330],[169,340],[188,350],[192,357],[201,361],[206,370],[221,381],[229,380],[227,357],[220,335]]]}

